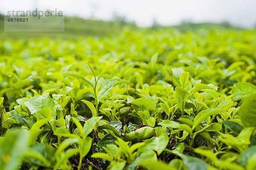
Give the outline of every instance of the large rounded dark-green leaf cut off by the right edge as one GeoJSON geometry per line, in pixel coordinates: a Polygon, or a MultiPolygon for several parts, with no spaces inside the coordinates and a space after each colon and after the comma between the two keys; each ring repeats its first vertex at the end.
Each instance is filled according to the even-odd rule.
{"type": "Polygon", "coordinates": [[[256,94],[244,98],[239,115],[245,127],[256,127],[256,94]]]}

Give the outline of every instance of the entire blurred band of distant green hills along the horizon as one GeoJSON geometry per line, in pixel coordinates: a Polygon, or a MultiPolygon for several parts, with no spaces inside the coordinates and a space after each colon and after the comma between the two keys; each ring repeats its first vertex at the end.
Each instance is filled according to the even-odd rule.
{"type": "Polygon", "coordinates": [[[30,38],[30,37],[51,37],[63,39],[77,39],[79,37],[97,36],[102,37],[109,34],[122,32],[123,29],[129,28],[131,30],[157,31],[159,29],[177,29],[180,32],[187,32],[199,28],[206,29],[241,29],[231,26],[228,23],[189,23],[184,22],[177,26],[160,26],[154,25],[149,28],[140,28],[134,23],[128,23],[123,20],[116,21],[102,21],[82,19],[79,17],[65,17],[65,32],[3,32],[4,30],[4,16],[0,14],[0,38],[30,38]]]}

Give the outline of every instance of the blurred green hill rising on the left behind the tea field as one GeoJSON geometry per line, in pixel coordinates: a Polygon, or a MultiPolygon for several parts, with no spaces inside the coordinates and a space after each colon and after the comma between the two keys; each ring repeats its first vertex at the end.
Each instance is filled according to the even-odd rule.
{"type": "Polygon", "coordinates": [[[4,32],[4,16],[0,15],[0,37],[1,38],[28,38],[28,37],[53,37],[76,39],[87,36],[105,36],[121,32],[125,27],[138,29],[133,23],[126,23],[122,20],[102,21],[89,20],[79,17],[65,17],[65,32],[4,32]]]}

